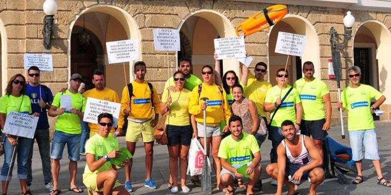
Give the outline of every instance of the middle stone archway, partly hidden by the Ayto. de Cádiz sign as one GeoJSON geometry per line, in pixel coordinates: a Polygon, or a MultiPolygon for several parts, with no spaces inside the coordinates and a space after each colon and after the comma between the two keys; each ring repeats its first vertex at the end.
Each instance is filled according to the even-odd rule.
{"type": "MultiPolygon", "coordinates": [[[[214,65],[214,38],[236,36],[231,22],[221,13],[211,10],[201,10],[187,15],[178,29],[181,35],[181,51],[177,57],[190,58],[193,74],[200,78],[202,66],[214,65]]],[[[220,67],[221,73],[228,70],[239,73],[239,62],[235,59],[222,60],[220,67]]]]}

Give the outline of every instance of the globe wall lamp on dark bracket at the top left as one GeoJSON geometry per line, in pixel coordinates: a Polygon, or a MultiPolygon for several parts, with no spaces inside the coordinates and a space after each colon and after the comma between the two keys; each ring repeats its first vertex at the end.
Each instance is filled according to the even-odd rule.
{"type": "Polygon", "coordinates": [[[54,14],[57,13],[57,3],[54,0],[46,0],[43,9],[46,14],[44,18],[44,27],[42,29],[42,35],[44,37],[43,45],[45,49],[49,50],[51,47],[50,40],[53,31],[54,14]]]}

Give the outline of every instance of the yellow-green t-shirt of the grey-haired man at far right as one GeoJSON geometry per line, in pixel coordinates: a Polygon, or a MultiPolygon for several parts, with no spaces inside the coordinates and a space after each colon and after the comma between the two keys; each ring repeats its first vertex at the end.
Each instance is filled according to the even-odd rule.
{"type": "Polygon", "coordinates": [[[343,90],[341,94],[342,106],[347,110],[347,129],[349,131],[375,128],[371,113],[371,100],[377,100],[381,96],[383,94],[375,88],[364,84],[357,88],[349,86],[343,90]]]}

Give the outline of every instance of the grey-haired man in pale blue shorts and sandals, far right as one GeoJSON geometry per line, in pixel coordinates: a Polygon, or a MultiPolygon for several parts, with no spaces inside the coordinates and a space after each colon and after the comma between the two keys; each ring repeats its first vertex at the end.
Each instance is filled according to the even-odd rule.
{"type": "Polygon", "coordinates": [[[359,66],[351,66],[347,69],[350,85],[343,90],[341,100],[337,103],[338,109],[347,111],[347,129],[349,141],[353,153],[353,161],[357,168],[357,176],[353,184],[359,184],[363,179],[363,145],[365,147],[365,159],[372,160],[377,174],[377,183],[391,187],[391,182],[383,177],[379,150],[377,148],[376,127],[372,113],[384,101],[385,97],[375,88],[360,84],[361,69],[359,66]],[[371,100],[375,103],[371,105],[371,100]]]}

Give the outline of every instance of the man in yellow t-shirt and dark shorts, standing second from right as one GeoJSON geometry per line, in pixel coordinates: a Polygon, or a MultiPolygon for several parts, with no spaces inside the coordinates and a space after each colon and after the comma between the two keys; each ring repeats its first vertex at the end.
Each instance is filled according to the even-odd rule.
{"type": "Polygon", "coordinates": [[[331,100],[329,88],[314,77],[314,72],[314,64],[304,62],[304,77],[295,82],[294,88],[298,90],[303,105],[301,134],[311,136],[323,156],[322,140],[327,136],[331,125],[331,100]]]}

